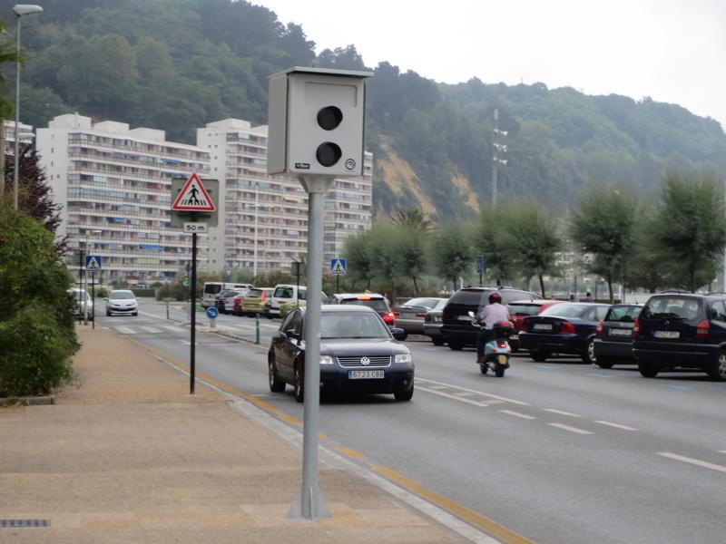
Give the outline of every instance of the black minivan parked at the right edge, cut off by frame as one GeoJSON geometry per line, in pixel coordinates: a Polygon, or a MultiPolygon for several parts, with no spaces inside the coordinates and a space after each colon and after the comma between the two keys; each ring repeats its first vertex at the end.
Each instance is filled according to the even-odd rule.
{"type": "Polygon", "coordinates": [[[633,355],[646,378],[681,367],[726,380],[726,295],[651,296],[633,326],[633,355]]]}

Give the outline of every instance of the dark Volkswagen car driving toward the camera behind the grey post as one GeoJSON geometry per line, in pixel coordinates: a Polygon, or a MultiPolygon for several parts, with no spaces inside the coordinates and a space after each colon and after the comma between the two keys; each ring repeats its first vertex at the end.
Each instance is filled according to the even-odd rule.
{"type": "MultiPolygon", "coordinates": [[[[272,337],[268,353],[270,391],[292,385],[303,402],[305,308],[295,308],[272,337]]],[[[393,393],[397,401],[414,394],[411,352],[399,344],[378,313],[368,306],[323,305],[320,313],[320,392],[393,393]]]]}

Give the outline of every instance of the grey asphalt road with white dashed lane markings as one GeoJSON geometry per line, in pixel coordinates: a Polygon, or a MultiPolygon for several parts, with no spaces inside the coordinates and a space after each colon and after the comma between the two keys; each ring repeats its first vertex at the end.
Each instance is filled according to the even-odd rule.
{"type": "MultiPolygon", "coordinates": [[[[188,328],[152,302],[140,310],[98,325],[186,362],[188,328]]],[[[262,325],[260,345],[198,335],[197,368],[302,419],[290,388],[270,393],[266,353],[279,322],[262,325]]],[[[540,544],[726,539],[726,384],[525,356],[497,379],[479,374],[473,351],[407,345],[413,401],[324,400],[322,432],[540,544]]]]}

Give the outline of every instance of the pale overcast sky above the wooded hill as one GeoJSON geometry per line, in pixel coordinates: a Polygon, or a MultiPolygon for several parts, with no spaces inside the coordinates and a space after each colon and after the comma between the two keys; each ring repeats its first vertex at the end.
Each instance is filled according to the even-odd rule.
{"type": "Polygon", "coordinates": [[[438,82],[543,82],[681,104],[726,127],[726,0],[253,0],[318,52],[438,82]]]}

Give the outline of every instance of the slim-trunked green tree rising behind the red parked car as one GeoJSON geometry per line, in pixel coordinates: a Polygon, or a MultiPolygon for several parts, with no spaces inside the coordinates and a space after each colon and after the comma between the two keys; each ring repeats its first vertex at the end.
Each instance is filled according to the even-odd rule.
{"type": "Polygon", "coordinates": [[[539,279],[545,297],[544,275],[557,273],[557,253],[563,246],[554,218],[535,204],[519,203],[509,209],[505,228],[516,247],[516,267],[527,279],[539,279]]]}

